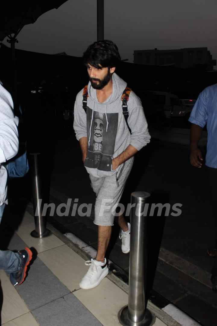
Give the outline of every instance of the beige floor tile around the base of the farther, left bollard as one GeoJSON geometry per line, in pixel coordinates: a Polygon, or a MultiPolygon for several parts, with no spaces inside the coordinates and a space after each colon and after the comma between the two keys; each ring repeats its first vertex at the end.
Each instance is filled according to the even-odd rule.
{"type": "Polygon", "coordinates": [[[58,239],[54,234],[46,238],[33,238],[30,233],[34,230],[34,223],[21,225],[16,231],[20,238],[30,247],[34,247],[37,252],[42,252],[55,247],[59,247],[64,243],[58,239]]]}

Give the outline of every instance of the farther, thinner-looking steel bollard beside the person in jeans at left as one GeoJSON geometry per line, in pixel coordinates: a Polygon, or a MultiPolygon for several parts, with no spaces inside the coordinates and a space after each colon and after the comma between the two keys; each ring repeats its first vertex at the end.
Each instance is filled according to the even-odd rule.
{"type": "Polygon", "coordinates": [[[46,229],[46,217],[42,216],[42,191],[41,178],[38,169],[38,155],[40,153],[30,154],[33,156],[33,171],[32,171],[32,191],[33,191],[33,207],[34,207],[34,222],[35,230],[31,232],[34,238],[44,238],[50,234],[50,230],[46,229]]]}

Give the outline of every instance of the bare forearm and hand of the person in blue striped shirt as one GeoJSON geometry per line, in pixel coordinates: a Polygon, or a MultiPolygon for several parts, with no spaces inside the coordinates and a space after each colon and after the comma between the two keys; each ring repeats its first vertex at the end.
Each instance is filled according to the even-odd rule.
{"type": "Polygon", "coordinates": [[[198,149],[197,145],[201,138],[203,132],[203,128],[201,126],[195,125],[194,123],[191,125],[191,135],[190,135],[190,162],[193,166],[197,168],[201,168],[202,163],[198,160],[198,158],[202,161],[203,157],[201,151],[198,149]]]}

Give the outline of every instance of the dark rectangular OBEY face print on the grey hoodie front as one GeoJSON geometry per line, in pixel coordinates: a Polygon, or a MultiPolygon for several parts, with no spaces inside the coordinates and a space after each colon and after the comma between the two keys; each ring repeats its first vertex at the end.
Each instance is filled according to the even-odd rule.
{"type": "Polygon", "coordinates": [[[115,150],[117,126],[118,113],[93,112],[87,106],[87,136],[90,139],[88,154],[84,163],[87,168],[101,171],[112,170],[112,155],[115,150]]]}

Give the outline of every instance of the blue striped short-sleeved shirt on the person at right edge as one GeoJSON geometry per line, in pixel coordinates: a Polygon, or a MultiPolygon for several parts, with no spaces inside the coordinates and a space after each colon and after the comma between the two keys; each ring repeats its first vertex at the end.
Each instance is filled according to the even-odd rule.
{"type": "Polygon", "coordinates": [[[200,93],[188,121],[202,128],[207,124],[206,165],[217,168],[217,84],[200,93]]]}

